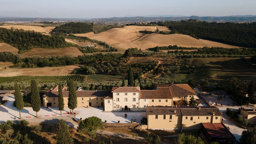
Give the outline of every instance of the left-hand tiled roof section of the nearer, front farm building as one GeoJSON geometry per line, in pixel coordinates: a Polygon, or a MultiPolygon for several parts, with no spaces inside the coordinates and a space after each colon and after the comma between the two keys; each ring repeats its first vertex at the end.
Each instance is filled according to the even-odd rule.
{"type": "Polygon", "coordinates": [[[180,109],[174,107],[154,106],[147,107],[147,115],[180,115],[180,109]],[[176,113],[174,112],[176,110],[176,113]]]}

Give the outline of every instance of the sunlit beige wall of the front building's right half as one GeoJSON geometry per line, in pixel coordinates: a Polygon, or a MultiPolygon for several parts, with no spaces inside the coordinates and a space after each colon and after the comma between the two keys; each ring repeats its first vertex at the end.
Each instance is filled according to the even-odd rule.
{"type": "Polygon", "coordinates": [[[220,122],[221,122],[221,116],[182,116],[183,129],[200,129],[201,123],[220,123],[220,122]],[[193,120],[190,120],[190,117],[193,117],[193,120]],[[206,119],[206,117],[208,117],[208,119],[206,119]],[[217,117],[217,119],[215,119],[215,117],[217,117]]]}

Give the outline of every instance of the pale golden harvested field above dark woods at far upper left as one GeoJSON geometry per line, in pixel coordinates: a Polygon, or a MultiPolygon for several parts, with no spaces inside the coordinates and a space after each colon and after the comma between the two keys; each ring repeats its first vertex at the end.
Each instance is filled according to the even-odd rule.
{"type": "Polygon", "coordinates": [[[41,33],[47,33],[51,32],[55,27],[54,26],[48,26],[48,27],[41,27],[41,26],[29,26],[29,25],[4,25],[0,26],[2,28],[11,29],[11,27],[14,27],[14,29],[23,29],[23,30],[34,30],[35,32],[41,32],[41,33]]]}

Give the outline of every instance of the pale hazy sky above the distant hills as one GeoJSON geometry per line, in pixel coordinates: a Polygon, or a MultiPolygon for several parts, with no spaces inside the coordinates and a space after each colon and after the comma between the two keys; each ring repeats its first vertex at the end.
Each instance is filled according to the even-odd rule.
{"type": "Polygon", "coordinates": [[[256,0],[0,0],[0,16],[106,18],[256,15],[256,0]]]}

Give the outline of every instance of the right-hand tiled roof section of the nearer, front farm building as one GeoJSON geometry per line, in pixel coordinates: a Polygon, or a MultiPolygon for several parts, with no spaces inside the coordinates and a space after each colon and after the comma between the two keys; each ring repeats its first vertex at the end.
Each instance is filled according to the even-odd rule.
{"type": "Polygon", "coordinates": [[[220,110],[214,106],[207,107],[180,107],[182,116],[222,116],[220,110]]]}

